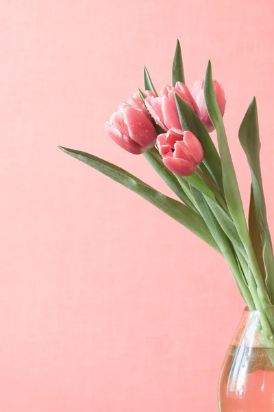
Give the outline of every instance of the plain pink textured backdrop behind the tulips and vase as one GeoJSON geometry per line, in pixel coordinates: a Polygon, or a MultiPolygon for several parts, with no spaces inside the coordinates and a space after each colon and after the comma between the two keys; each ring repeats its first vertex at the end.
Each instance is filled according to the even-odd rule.
{"type": "Polygon", "coordinates": [[[243,308],[225,262],[184,227],[58,144],[118,163],[164,193],[103,123],[145,63],[170,82],[208,58],[245,203],[240,120],[258,98],[274,224],[271,0],[1,1],[1,412],[216,412],[243,308]]]}

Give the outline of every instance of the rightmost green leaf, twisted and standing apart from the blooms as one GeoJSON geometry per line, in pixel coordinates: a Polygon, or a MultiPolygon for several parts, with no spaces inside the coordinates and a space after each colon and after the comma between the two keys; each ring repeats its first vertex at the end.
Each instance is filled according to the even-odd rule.
{"type": "Polygon", "coordinates": [[[264,264],[266,286],[271,294],[271,300],[274,302],[273,248],[269,227],[267,225],[266,203],[262,186],[258,111],[255,98],[251,101],[240,125],[239,139],[247,155],[252,179],[249,207],[249,233],[261,271],[263,271],[262,263],[264,264]]]}

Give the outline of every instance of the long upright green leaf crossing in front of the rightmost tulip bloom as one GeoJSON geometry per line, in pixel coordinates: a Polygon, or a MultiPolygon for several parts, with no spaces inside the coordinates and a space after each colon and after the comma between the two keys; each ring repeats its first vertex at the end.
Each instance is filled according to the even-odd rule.
{"type": "Polygon", "coordinates": [[[271,306],[271,301],[269,299],[262,274],[260,273],[260,268],[258,266],[256,255],[253,251],[251,239],[249,237],[247,221],[245,220],[245,212],[243,210],[242,199],[240,197],[240,190],[236,179],[232,157],[229,151],[225,126],[223,124],[223,117],[221,115],[221,111],[214,92],[210,62],[208,62],[208,67],[206,70],[206,78],[203,91],[206,99],[206,106],[208,108],[208,114],[210,115],[212,124],[216,128],[223,171],[223,187],[225,190],[227,207],[229,208],[229,212],[235,223],[238,235],[240,236],[240,240],[244,244],[245,250],[247,251],[251,272],[254,279],[256,279],[258,292],[260,292],[260,294],[264,296],[264,304],[267,303],[268,306],[271,306]]]}

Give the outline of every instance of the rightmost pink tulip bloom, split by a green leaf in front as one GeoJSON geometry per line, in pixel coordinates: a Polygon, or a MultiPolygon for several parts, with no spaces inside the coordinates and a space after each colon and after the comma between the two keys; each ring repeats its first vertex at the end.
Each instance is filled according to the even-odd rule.
{"type": "MultiPolygon", "coordinates": [[[[206,130],[208,130],[208,132],[212,132],[212,130],[214,130],[214,126],[208,115],[208,109],[206,108],[206,100],[205,100],[205,96],[203,93],[203,84],[204,84],[203,79],[197,80],[197,82],[193,84],[191,93],[199,107],[201,122],[206,127],[206,130]]],[[[216,80],[213,80],[213,86],[214,86],[214,91],[216,94],[216,99],[217,99],[217,102],[219,104],[219,108],[221,111],[221,115],[223,116],[223,114],[225,113],[225,103],[226,103],[225,92],[223,91],[223,86],[216,80]]]]}

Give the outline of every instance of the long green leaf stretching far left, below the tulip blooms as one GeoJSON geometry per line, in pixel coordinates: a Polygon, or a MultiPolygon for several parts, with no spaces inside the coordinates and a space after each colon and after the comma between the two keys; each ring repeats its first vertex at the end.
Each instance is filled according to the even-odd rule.
{"type": "Polygon", "coordinates": [[[105,174],[105,176],[110,177],[114,181],[121,183],[121,185],[139,194],[142,198],[145,198],[146,201],[149,201],[152,205],[164,211],[164,213],[177,220],[177,222],[184,225],[184,227],[195,233],[199,236],[199,238],[205,240],[205,242],[210,244],[210,246],[216,249],[216,251],[220,252],[218,245],[212,238],[201,217],[189,207],[183,205],[181,202],[169,198],[168,196],[164,196],[164,194],[153,189],[153,187],[147,185],[147,183],[142,182],[136,176],[133,176],[126,170],[123,170],[108,161],[90,155],[86,152],[63,148],[61,146],[59,147],[67,155],[75,157],[75,159],[86,163],[90,167],[105,174]]]}

